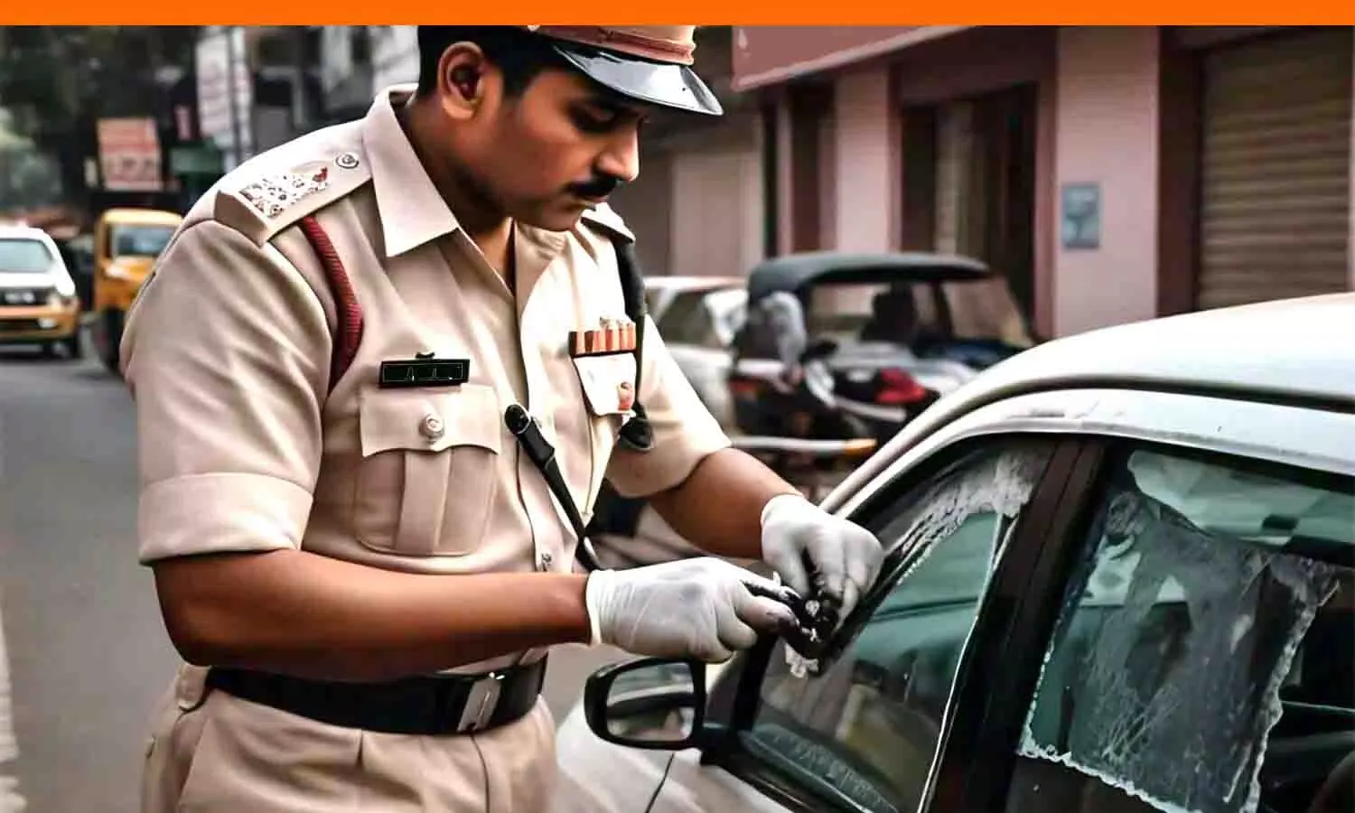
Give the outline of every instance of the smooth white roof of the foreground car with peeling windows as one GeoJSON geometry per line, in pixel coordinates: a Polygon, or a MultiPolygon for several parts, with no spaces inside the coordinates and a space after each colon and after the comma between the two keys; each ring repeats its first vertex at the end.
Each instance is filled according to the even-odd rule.
{"type": "Polygon", "coordinates": [[[919,416],[944,423],[1050,389],[1211,390],[1355,406],[1355,294],[1202,310],[1054,339],[996,364],[919,416]]]}

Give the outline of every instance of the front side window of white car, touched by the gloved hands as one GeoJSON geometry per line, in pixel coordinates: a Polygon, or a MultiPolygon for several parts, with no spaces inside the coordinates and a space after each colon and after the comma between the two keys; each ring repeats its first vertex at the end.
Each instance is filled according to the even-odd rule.
{"type": "Polygon", "coordinates": [[[988,442],[858,519],[889,551],[877,588],[822,673],[797,676],[778,644],[741,734],[755,759],[841,809],[917,809],[980,599],[1050,450],[988,442]]]}

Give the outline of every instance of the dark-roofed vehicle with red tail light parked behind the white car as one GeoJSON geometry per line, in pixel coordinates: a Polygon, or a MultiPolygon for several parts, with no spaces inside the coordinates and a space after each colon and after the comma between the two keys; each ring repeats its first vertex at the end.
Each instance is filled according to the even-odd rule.
{"type": "Polygon", "coordinates": [[[1035,344],[1007,279],[962,256],[772,257],[748,276],[747,310],[728,388],[734,423],[749,435],[883,443],[936,398],[1035,344]],[[782,383],[795,363],[782,358],[787,318],[808,340],[805,381],[791,392],[782,383]]]}

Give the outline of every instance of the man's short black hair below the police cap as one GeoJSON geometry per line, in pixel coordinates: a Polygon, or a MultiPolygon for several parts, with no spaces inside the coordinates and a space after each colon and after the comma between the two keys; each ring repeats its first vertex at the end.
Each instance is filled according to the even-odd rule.
{"type": "Polygon", "coordinates": [[[438,61],[457,42],[473,42],[504,76],[504,93],[518,96],[546,68],[569,68],[543,37],[518,26],[419,26],[419,95],[438,88],[438,61]]]}

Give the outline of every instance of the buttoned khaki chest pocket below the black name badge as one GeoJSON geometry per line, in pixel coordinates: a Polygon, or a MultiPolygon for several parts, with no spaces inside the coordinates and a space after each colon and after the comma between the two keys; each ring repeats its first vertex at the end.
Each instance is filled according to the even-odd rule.
{"type": "Polygon", "coordinates": [[[358,420],[358,541],[401,556],[477,550],[499,482],[501,423],[493,389],[370,390],[358,420]]]}

